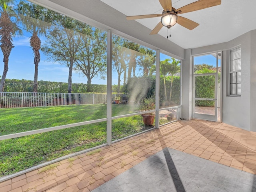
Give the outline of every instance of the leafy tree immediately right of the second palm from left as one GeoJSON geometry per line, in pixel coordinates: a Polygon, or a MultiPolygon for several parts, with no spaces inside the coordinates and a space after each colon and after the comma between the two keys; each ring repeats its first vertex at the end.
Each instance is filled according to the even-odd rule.
{"type": "Polygon", "coordinates": [[[69,68],[68,93],[71,93],[72,71],[78,58],[78,50],[84,48],[82,44],[84,34],[82,34],[82,31],[86,24],[56,12],[51,12],[49,15],[51,15],[52,23],[55,26],[50,29],[46,42],[42,46],[42,51],[49,59],[69,68]]]}

